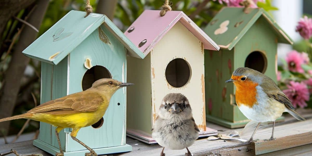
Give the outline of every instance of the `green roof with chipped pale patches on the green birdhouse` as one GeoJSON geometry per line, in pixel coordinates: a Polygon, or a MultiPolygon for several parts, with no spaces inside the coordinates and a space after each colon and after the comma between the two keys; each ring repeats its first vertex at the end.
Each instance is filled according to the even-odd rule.
{"type": "Polygon", "coordinates": [[[223,7],[205,27],[206,32],[222,49],[231,50],[259,17],[263,16],[275,31],[278,42],[293,44],[291,38],[277,25],[262,8],[223,7]]]}

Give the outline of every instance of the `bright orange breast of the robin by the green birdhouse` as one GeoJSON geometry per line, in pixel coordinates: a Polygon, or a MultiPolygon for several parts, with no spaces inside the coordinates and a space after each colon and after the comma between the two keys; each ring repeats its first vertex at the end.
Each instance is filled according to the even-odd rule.
{"type": "Polygon", "coordinates": [[[246,80],[235,81],[234,85],[236,86],[235,99],[238,107],[240,105],[245,105],[249,108],[252,108],[253,105],[258,104],[256,99],[256,86],[258,85],[258,83],[246,80]]]}

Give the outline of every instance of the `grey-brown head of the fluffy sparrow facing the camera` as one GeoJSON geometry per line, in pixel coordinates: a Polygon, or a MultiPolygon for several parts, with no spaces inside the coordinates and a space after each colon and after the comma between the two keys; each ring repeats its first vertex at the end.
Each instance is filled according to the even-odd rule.
{"type": "Polygon", "coordinates": [[[159,107],[159,115],[163,119],[179,117],[179,119],[189,119],[192,117],[192,109],[188,99],[181,93],[167,94],[159,107]]]}

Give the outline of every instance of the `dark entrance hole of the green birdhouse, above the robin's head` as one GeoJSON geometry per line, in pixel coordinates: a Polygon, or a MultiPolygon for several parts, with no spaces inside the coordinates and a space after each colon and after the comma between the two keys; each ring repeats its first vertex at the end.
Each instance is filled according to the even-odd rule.
{"type": "Polygon", "coordinates": [[[251,52],[246,58],[245,67],[254,69],[261,73],[266,72],[267,67],[266,56],[260,51],[251,52]]]}

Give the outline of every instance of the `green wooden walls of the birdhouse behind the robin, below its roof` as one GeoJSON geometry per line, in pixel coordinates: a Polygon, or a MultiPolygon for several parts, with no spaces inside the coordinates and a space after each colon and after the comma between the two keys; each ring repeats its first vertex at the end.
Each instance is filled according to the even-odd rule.
{"type": "Polygon", "coordinates": [[[265,71],[276,82],[277,35],[265,20],[259,17],[232,50],[205,51],[207,119],[231,128],[248,121],[235,105],[234,84],[225,83],[235,69],[246,66],[265,71]]]}

